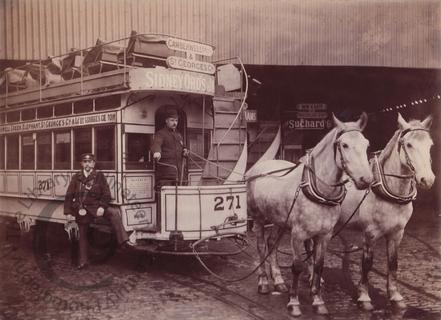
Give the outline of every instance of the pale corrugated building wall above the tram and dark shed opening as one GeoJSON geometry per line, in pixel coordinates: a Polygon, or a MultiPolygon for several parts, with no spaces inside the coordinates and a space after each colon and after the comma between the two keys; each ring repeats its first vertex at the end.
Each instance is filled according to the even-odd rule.
{"type": "Polygon", "coordinates": [[[0,60],[139,33],[210,43],[247,64],[441,67],[436,0],[0,0],[0,60]]]}

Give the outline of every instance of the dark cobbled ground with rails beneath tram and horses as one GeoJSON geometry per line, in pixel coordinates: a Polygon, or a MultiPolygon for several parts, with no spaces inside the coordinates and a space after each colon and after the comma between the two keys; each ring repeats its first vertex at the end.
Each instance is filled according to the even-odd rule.
{"type": "MultiPolygon", "coordinates": [[[[418,207],[400,248],[399,279],[408,308],[394,312],[386,299],[385,250],[375,252],[371,275],[375,310],[358,310],[355,304],[360,252],[342,254],[346,244],[361,243],[359,233],[345,230],[332,241],[326,259],[324,298],[331,319],[441,319],[441,216],[431,208],[418,207]]],[[[71,265],[69,242],[59,226],[46,230],[50,263],[35,254],[32,232],[21,235],[14,224],[0,224],[0,320],[3,319],[291,319],[286,312],[288,296],[261,296],[256,275],[235,283],[217,280],[190,257],[158,257],[106,252],[106,239],[95,252],[95,264],[78,271],[71,265]],[[103,252],[105,255],[103,256],[103,252]]],[[[204,258],[214,272],[239,278],[255,266],[252,246],[239,256],[204,258]]],[[[96,241],[99,245],[100,241],[96,241]]],[[[285,239],[282,250],[289,249],[285,239]]],[[[280,255],[288,266],[289,257],[280,255]]],[[[290,270],[283,269],[289,283],[290,270]]],[[[314,315],[308,285],[301,283],[304,316],[314,315]]]]}

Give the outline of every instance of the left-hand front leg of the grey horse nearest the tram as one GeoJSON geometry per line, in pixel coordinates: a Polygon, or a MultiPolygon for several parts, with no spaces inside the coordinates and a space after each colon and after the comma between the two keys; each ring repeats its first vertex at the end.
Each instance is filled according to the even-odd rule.
{"type": "Polygon", "coordinates": [[[292,284],[291,289],[289,291],[289,302],[287,305],[288,311],[294,317],[299,317],[302,315],[302,311],[300,310],[300,302],[299,302],[299,277],[303,270],[306,269],[306,265],[302,259],[302,242],[293,238],[291,235],[291,248],[293,254],[293,262],[291,267],[292,272],[292,284]]]}

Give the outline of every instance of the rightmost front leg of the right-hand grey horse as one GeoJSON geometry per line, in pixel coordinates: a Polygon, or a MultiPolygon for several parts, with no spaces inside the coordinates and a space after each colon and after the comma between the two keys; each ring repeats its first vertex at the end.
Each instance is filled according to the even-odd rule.
{"type": "Polygon", "coordinates": [[[403,238],[404,230],[388,235],[387,242],[387,294],[394,307],[399,309],[406,308],[403,296],[397,288],[397,270],[398,270],[398,247],[403,238]]]}

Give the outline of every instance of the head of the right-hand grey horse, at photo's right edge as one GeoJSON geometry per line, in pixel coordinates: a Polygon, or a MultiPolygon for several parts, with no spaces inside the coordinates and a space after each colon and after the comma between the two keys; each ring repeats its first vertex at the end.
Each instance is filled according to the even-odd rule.
{"type": "Polygon", "coordinates": [[[430,189],[435,181],[430,157],[430,148],[433,145],[429,132],[431,125],[432,116],[423,121],[406,122],[398,113],[398,127],[401,131],[398,149],[400,162],[415,174],[417,184],[423,189],[430,189]]]}

